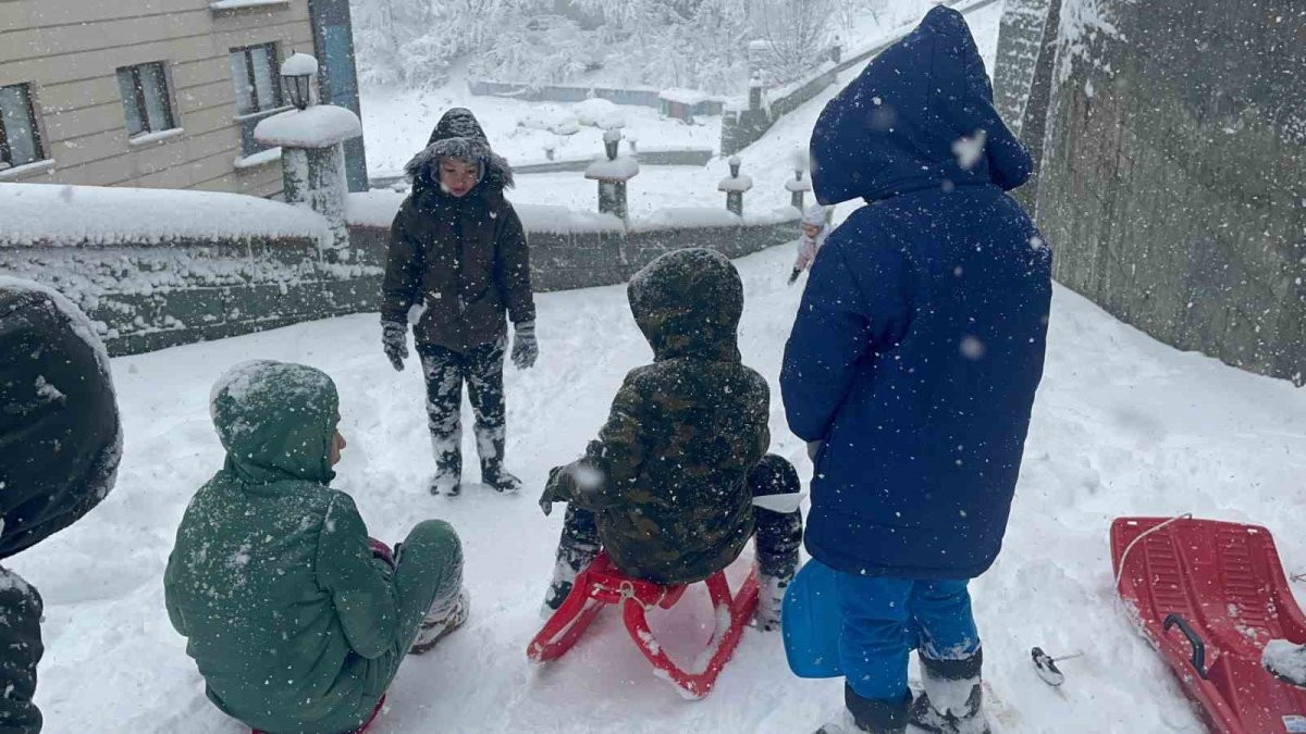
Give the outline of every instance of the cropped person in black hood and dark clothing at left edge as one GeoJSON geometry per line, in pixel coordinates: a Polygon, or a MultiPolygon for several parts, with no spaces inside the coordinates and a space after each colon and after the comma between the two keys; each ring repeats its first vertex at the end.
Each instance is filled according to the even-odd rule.
{"type": "MultiPolygon", "coordinates": [[[[0,277],[0,560],[73,524],[114,487],[123,430],[108,355],[57,293],[0,277]]],[[[37,589],[0,567],[0,731],[37,734],[37,589]]]]}

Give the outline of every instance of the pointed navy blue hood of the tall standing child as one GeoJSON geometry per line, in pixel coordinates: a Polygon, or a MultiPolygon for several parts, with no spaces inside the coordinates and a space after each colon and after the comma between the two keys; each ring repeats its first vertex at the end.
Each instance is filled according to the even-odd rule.
{"type": "Polygon", "coordinates": [[[965,18],[943,7],[825,106],[811,158],[816,200],[827,205],[952,185],[1011,191],[1032,167],[993,107],[965,18]]]}

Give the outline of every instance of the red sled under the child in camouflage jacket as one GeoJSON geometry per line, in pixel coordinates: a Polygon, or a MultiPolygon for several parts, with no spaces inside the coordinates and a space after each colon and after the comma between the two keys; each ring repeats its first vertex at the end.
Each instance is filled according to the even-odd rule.
{"type": "MultiPolygon", "coordinates": [[[[680,601],[686,586],[661,586],[631,579],[613,566],[606,552],[599,552],[598,558],[576,576],[571,594],[530,641],[526,657],[533,662],[560,658],[585,633],[585,628],[605,606],[622,605],[626,631],[631,633],[631,640],[644,657],[665,674],[683,696],[701,699],[712,691],[721,669],[739,646],[743,628],[757,607],[757,572],[754,569],[748,573],[734,597],[730,596],[725,571],[714,573],[707,580],[707,585],[718,624],[707,646],[712,653],[710,658],[701,671],[691,673],[671,662],[649,631],[645,618],[645,613],[654,607],[671,609],[680,601]]],[[[704,654],[707,656],[707,652],[704,654]]]]}

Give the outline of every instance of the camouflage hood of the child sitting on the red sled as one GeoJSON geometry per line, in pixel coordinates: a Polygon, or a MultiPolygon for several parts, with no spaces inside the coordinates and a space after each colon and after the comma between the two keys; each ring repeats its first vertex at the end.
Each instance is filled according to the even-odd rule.
{"type": "Polygon", "coordinates": [[[725,255],[704,248],[669,252],[631,278],[627,296],[658,362],[741,362],[743,281],[725,255]]]}

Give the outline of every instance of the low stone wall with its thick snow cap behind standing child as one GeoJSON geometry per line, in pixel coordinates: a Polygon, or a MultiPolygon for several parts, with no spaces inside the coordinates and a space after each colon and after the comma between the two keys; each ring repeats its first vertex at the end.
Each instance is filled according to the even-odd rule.
{"type": "MultiPolygon", "coordinates": [[[[67,295],[114,355],[375,311],[402,201],[350,195],[350,243],[332,249],[320,215],[263,199],[3,184],[0,276],[67,295]]],[[[541,291],[619,283],[683,247],[750,255],[791,240],[799,217],[789,208],[742,219],[662,212],[627,229],[597,212],[517,209],[541,291]]]]}

